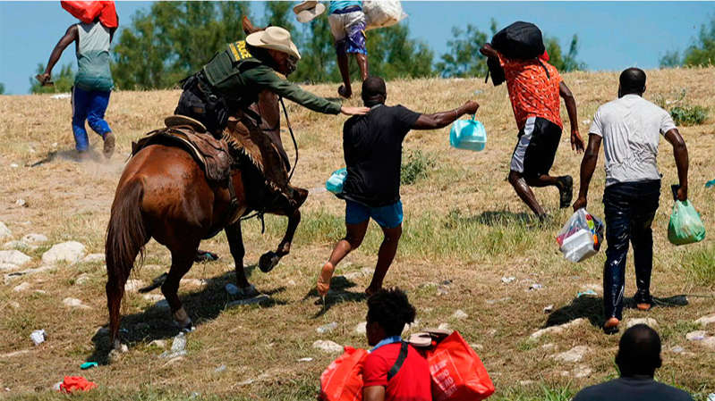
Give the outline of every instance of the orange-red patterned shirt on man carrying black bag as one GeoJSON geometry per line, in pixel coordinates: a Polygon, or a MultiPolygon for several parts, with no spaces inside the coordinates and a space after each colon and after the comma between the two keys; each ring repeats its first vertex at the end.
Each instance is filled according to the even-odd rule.
{"type": "Polygon", "coordinates": [[[514,109],[516,126],[523,129],[529,117],[541,117],[563,128],[559,85],[561,75],[553,65],[536,59],[511,60],[499,54],[504,69],[506,88],[514,109]],[[547,76],[544,67],[549,70],[547,76]]]}

